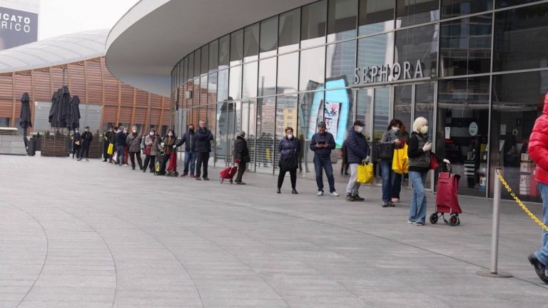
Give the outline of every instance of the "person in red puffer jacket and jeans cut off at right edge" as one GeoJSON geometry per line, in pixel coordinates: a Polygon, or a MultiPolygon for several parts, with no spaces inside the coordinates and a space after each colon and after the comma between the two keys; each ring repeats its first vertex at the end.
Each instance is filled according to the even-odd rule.
{"type": "MultiPolygon", "coordinates": [[[[537,164],[537,185],[542,197],[544,225],[548,225],[548,92],[544,96],[544,110],[534,122],[529,137],[529,156],[537,164]]],[[[548,284],[548,232],[542,231],[542,247],[528,257],[539,278],[548,284]]]]}

